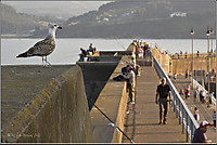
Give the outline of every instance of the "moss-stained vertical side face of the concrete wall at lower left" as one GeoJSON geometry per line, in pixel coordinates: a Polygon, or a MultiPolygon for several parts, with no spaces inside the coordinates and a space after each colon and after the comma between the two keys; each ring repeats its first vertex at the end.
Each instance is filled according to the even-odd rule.
{"type": "Polygon", "coordinates": [[[1,142],[93,142],[91,119],[78,66],[55,78],[1,132],[1,142]]]}

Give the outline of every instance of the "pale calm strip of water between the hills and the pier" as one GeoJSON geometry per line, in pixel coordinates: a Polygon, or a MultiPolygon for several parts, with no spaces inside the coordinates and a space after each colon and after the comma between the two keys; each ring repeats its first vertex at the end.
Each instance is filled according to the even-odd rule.
{"type": "MultiPolygon", "coordinates": [[[[1,65],[40,65],[41,57],[16,58],[20,53],[27,51],[41,39],[1,39],[1,65]]],[[[75,64],[79,58],[80,48],[87,50],[90,43],[97,51],[125,51],[133,39],[56,39],[56,48],[48,56],[52,65],[75,64]]],[[[151,47],[157,45],[161,51],[168,51],[171,54],[180,51],[191,53],[191,39],[139,39],[151,47]]],[[[216,48],[216,40],[209,41],[209,49],[216,48]]],[[[194,53],[207,52],[207,40],[194,40],[194,53]]]]}

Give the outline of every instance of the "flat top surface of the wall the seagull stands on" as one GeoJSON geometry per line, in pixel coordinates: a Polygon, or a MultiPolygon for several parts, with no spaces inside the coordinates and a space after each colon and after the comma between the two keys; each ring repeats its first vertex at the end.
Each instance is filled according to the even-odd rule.
{"type": "Polygon", "coordinates": [[[2,129],[55,77],[73,65],[43,68],[38,65],[1,66],[1,127],[2,129]]]}

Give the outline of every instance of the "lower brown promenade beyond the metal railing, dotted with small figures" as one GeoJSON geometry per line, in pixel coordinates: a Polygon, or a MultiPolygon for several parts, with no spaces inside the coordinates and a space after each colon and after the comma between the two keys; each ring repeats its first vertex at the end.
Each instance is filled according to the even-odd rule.
{"type": "MultiPolygon", "coordinates": [[[[180,88],[184,90],[187,84],[191,85],[191,79],[184,78],[184,76],[179,76],[176,81],[174,79],[171,79],[171,81],[178,91],[180,90],[180,88]]],[[[186,100],[186,96],[183,96],[183,101],[186,102],[187,106],[192,111],[192,114],[194,111],[194,108],[197,107],[200,115],[200,120],[197,121],[197,123],[200,124],[201,121],[208,121],[213,123],[213,111],[216,106],[210,105],[210,107],[207,107],[207,102],[202,104],[200,102],[200,96],[197,96],[196,101],[193,102],[192,88],[190,90],[190,93],[191,93],[190,98],[186,100]]],[[[208,98],[206,100],[208,101],[208,98]]],[[[207,139],[212,140],[213,143],[216,142],[216,130],[214,129],[214,127],[208,129],[208,131],[206,132],[206,136],[207,139]]]]}

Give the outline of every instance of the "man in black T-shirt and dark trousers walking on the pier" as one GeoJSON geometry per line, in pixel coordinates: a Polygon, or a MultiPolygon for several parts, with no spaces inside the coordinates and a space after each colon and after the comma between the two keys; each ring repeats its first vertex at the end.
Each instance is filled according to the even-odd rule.
{"type": "Polygon", "coordinates": [[[157,85],[156,97],[155,97],[155,103],[159,105],[159,124],[167,123],[166,118],[167,118],[167,111],[169,109],[168,102],[169,104],[171,104],[171,90],[169,85],[166,84],[166,79],[162,78],[162,83],[157,85]]]}

